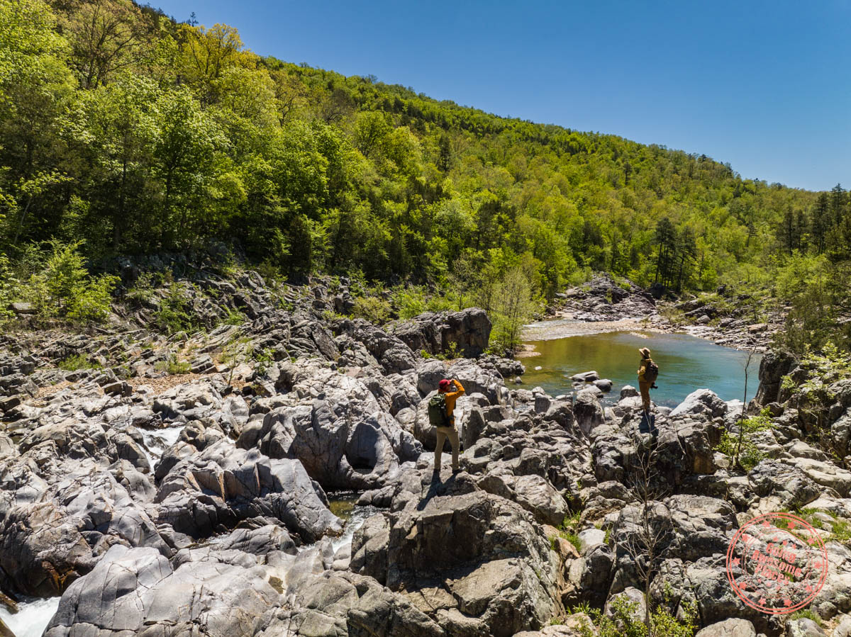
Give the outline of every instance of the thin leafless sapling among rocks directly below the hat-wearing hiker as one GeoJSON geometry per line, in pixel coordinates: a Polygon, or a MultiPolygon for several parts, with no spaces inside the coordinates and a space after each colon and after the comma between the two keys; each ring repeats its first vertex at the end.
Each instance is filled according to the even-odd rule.
{"type": "Polygon", "coordinates": [[[643,584],[644,622],[650,627],[650,583],[671,541],[671,512],[661,503],[671,488],[657,469],[658,450],[635,446],[635,460],[627,478],[627,489],[636,504],[631,505],[623,537],[615,543],[630,556],[639,580],[643,584]]]}

